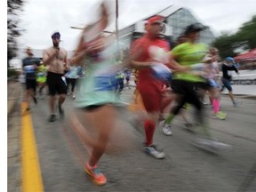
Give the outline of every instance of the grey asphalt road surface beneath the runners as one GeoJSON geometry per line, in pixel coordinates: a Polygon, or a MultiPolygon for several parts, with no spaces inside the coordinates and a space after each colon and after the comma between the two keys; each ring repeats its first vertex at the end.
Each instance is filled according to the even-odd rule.
{"type": "MultiPolygon", "coordinates": [[[[132,89],[124,90],[121,99],[125,102],[132,100],[132,89]]],[[[108,178],[107,185],[101,187],[95,186],[84,173],[88,148],[78,140],[67,121],[58,118],[54,123],[47,122],[48,100],[38,100],[38,104],[31,110],[31,115],[44,191],[254,192],[256,100],[240,100],[243,100],[243,105],[234,108],[228,97],[222,96],[221,109],[228,113],[224,121],[211,117],[211,107],[206,106],[205,110],[214,137],[230,144],[232,149],[222,150],[214,155],[196,148],[191,145],[193,134],[185,131],[182,118],[177,116],[172,124],[172,136],[165,136],[160,128],[156,129],[155,142],[160,148],[164,148],[166,153],[163,160],[156,160],[141,151],[144,135],[139,124],[137,128],[132,126],[132,114],[124,108],[117,108],[118,120],[112,145],[99,164],[100,170],[105,172],[108,178]]],[[[67,119],[73,103],[71,96],[65,101],[67,119]]],[[[192,111],[191,109],[188,112],[191,120],[192,111]]],[[[17,121],[19,118],[20,116],[16,115],[10,121],[17,121]]],[[[16,127],[16,130],[19,129],[16,127]]],[[[19,188],[19,182],[16,182],[16,185],[19,188]]]]}

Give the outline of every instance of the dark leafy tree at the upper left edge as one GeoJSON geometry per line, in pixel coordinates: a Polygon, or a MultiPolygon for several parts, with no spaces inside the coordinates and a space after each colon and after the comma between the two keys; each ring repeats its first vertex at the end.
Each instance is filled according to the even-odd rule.
{"type": "Polygon", "coordinates": [[[9,61],[17,56],[18,44],[17,37],[20,36],[18,15],[22,11],[25,0],[7,1],[7,67],[9,61]]]}

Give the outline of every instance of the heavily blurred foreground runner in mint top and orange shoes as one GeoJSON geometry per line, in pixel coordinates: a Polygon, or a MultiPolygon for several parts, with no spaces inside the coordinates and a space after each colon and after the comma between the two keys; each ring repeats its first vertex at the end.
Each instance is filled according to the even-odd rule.
{"type": "Polygon", "coordinates": [[[76,114],[70,116],[70,122],[79,135],[86,138],[84,143],[92,148],[84,169],[97,185],[107,183],[98,163],[106,151],[109,135],[116,123],[116,109],[113,104],[117,101],[115,84],[112,84],[116,71],[109,69],[116,64],[109,48],[113,41],[102,33],[107,28],[108,21],[108,10],[103,2],[100,5],[100,20],[84,28],[76,52],[71,58],[71,64],[84,62],[86,73],[85,77],[80,79],[75,101],[76,114]],[[81,114],[80,120],[77,114],[81,114]],[[95,140],[84,133],[84,124],[81,123],[83,119],[97,132],[95,140]]]}

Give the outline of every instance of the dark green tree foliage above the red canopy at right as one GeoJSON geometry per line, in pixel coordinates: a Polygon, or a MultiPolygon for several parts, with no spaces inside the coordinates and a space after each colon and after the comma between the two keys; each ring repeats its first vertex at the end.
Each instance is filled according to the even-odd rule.
{"type": "Polygon", "coordinates": [[[256,47],[256,15],[252,20],[245,22],[236,34],[224,33],[217,37],[212,46],[217,47],[220,51],[220,57],[235,57],[237,49],[251,50],[256,47]]]}

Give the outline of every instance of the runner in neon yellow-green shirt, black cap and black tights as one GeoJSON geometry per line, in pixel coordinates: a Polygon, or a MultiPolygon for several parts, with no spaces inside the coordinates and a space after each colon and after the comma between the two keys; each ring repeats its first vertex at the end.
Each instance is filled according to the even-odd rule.
{"type": "Polygon", "coordinates": [[[168,130],[171,130],[172,119],[179,113],[180,108],[188,102],[196,107],[196,120],[198,122],[199,132],[196,132],[197,137],[195,142],[200,144],[204,142],[204,145],[205,143],[213,145],[215,141],[212,139],[212,134],[205,123],[203,105],[195,90],[198,83],[205,82],[204,78],[202,78],[202,71],[200,70],[204,68],[202,60],[208,48],[205,44],[196,43],[199,32],[202,30],[204,28],[199,24],[189,25],[184,33],[188,37],[188,42],[172,49],[172,59],[176,60],[180,65],[189,66],[194,71],[188,73],[176,72],[174,74],[172,78],[172,91],[179,95],[179,98],[176,99],[178,105],[172,108],[171,115],[164,121],[163,131],[168,132],[168,130]],[[199,68],[201,69],[198,71],[199,68]]]}

